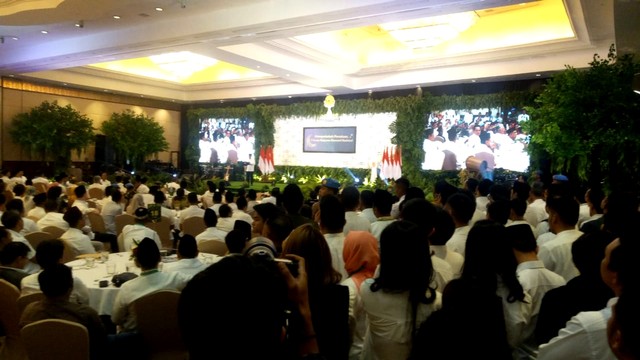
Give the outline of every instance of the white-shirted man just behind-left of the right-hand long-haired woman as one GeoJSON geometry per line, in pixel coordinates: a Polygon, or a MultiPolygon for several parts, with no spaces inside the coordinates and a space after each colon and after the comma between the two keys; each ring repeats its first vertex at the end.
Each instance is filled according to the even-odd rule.
{"type": "Polygon", "coordinates": [[[473,217],[474,208],[473,199],[465,193],[456,193],[449,196],[444,206],[445,211],[451,215],[453,223],[456,225],[453,236],[447,241],[447,249],[455,251],[462,256],[464,256],[467,246],[467,235],[469,235],[470,230],[469,221],[473,217]]]}

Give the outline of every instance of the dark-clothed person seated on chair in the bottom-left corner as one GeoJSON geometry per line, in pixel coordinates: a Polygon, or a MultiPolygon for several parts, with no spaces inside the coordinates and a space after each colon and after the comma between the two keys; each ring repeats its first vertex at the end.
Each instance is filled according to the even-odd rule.
{"type": "Polygon", "coordinates": [[[69,301],[73,290],[71,268],[62,264],[47,267],[38,275],[38,282],[45,298],[27,305],[20,318],[20,327],[44,319],[76,322],[89,332],[91,359],[106,359],[107,332],[98,313],[87,305],[69,301]]]}

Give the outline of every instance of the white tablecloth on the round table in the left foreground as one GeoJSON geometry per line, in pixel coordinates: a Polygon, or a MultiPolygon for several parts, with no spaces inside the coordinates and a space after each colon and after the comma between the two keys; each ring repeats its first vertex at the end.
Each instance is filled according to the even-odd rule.
{"type": "MultiPolygon", "coordinates": [[[[121,252],[109,254],[109,262],[116,265],[116,274],[130,271],[134,274],[140,274],[140,268],[136,267],[133,260],[130,259],[130,252],[121,252]],[[127,270],[128,269],[128,270],[127,270]]],[[[212,254],[200,254],[198,256],[205,263],[213,263],[218,260],[219,256],[212,254]]],[[[163,262],[176,261],[176,256],[168,256],[163,258],[163,262]]],[[[66,264],[73,269],[73,275],[78,277],[89,289],[89,306],[94,308],[100,315],[111,315],[113,303],[120,288],[117,288],[111,282],[113,275],[107,274],[106,263],[96,259],[94,266],[89,268],[85,265],[85,260],[74,260],[66,264]],[[107,287],[100,287],[100,280],[107,280],[107,287]]],[[[162,264],[160,264],[161,268],[162,264]]]]}

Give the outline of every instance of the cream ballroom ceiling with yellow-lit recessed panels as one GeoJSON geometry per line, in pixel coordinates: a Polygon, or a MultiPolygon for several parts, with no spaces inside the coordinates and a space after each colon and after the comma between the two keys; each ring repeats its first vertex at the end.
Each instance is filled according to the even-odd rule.
{"type": "Polygon", "coordinates": [[[627,31],[614,22],[614,2],[638,3],[0,0],[0,75],[181,103],[530,79],[606,55],[627,31]],[[428,47],[390,24],[458,13],[471,25],[428,47]],[[180,52],[209,60],[170,60],[175,75],[149,58],[180,52]]]}

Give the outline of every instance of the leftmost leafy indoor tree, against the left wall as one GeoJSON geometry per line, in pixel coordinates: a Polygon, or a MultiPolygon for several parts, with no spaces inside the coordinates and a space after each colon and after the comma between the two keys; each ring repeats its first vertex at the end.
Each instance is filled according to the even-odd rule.
{"type": "Polygon", "coordinates": [[[45,101],[29,112],[13,118],[9,129],[13,142],[28,149],[32,158],[55,162],[57,171],[66,171],[71,151],[80,153],[95,140],[93,121],[71,105],[45,101]]]}

